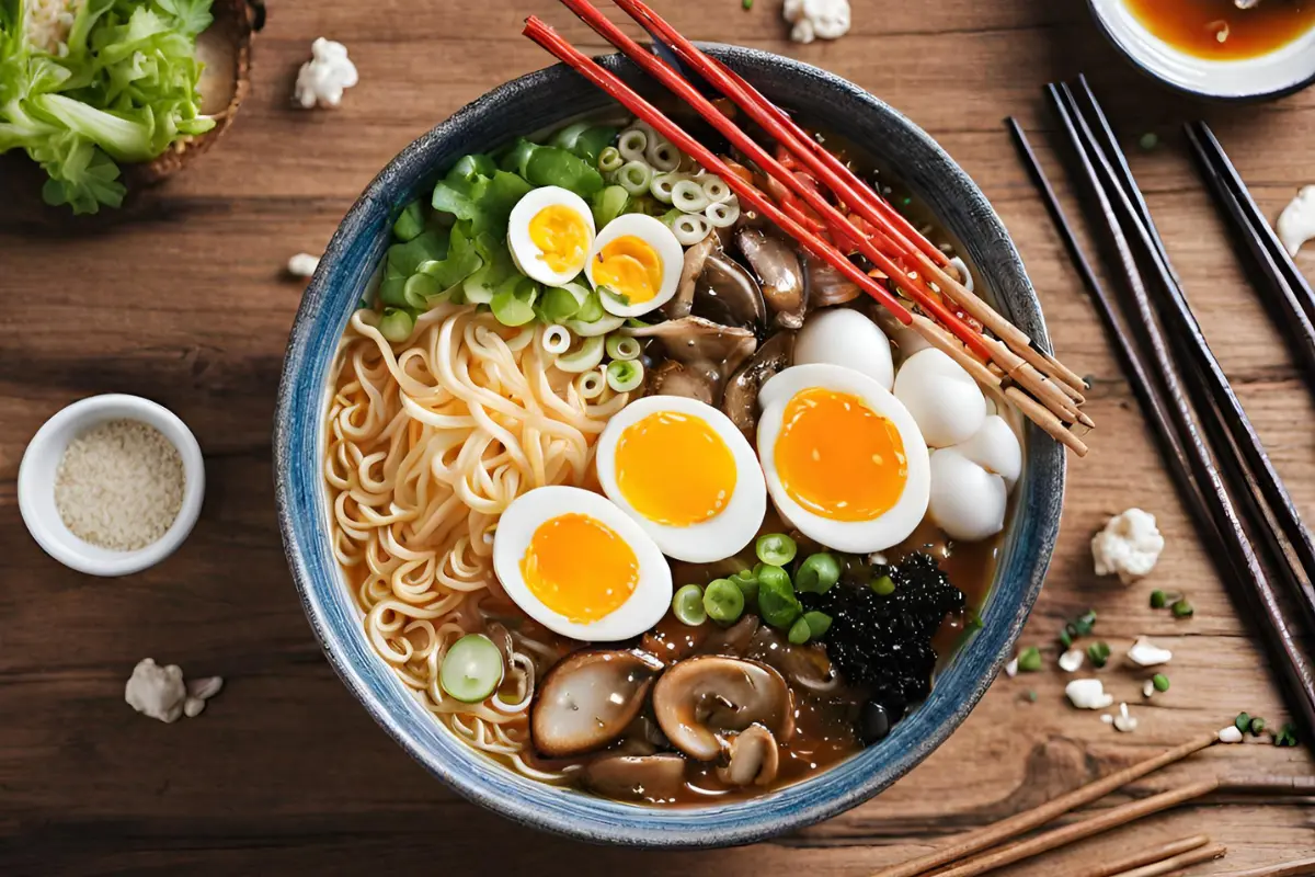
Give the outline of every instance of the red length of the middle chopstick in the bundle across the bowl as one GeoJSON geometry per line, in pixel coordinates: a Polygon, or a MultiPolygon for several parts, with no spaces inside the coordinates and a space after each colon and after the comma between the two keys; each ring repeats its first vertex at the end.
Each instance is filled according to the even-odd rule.
{"type": "MultiPolygon", "coordinates": [[[[964,321],[960,320],[953,312],[945,308],[945,305],[930,289],[924,288],[922,285],[922,283],[926,283],[924,280],[918,283],[909,277],[907,271],[902,270],[889,256],[881,252],[872,243],[872,241],[868,239],[868,235],[855,227],[855,225],[843,213],[822,197],[821,193],[800,181],[794,174],[786,170],[767,150],[755,143],[752,138],[744,134],[744,131],[735,125],[735,122],[713,107],[711,101],[704,97],[697,88],[685,82],[680,74],[644,51],[639,43],[627,37],[619,28],[617,28],[617,25],[611,24],[597,7],[589,3],[589,0],[562,0],[562,3],[576,13],[585,24],[593,28],[604,39],[614,45],[626,57],[639,64],[644,72],[663,83],[681,100],[694,108],[700,116],[707,120],[713,128],[739,147],[755,164],[763,168],[765,174],[772,176],[781,185],[785,185],[796,196],[802,199],[803,202],[813,208],[823,218],[826,225],[839,230],[844,238],[856,242],[863,255],[865,255],[882,272],[890,276],[890,279],[897,283],[901,289],[909,293],[910,298],[935,317],[936,321],[949,329],[964,344],[968,346],[969,350],[973,351],[974,355],[984,360],[990,360],[990,350],[982,342],[981,337],[973,331],[972,327],[964,323],[964,321]]],[[[793,210],[784,209],[782,212],[803,227],[810,225],[809,222],[801,222],[801,217],[796,216],[793,210]]],[[[848,262],[848,259],[846,259],[846,262],[848,262]]],[[[902,312],[903,308],[899,308],[899,310],[902,312]]]]}

